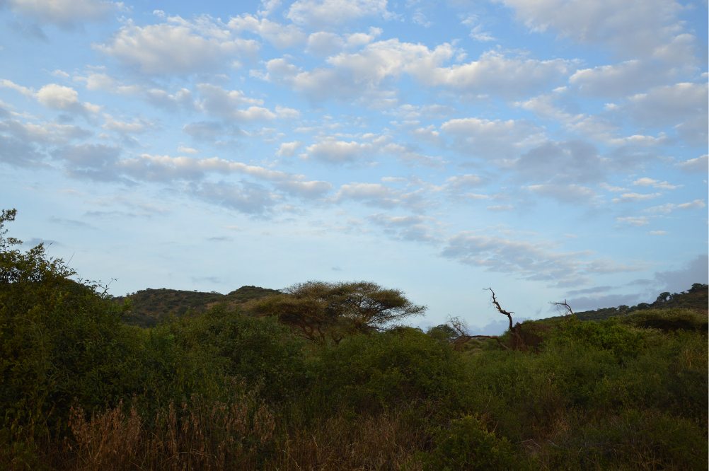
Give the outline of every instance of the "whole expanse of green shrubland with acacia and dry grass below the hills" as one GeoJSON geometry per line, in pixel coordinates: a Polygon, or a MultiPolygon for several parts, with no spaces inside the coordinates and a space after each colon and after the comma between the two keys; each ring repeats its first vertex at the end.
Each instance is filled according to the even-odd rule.
{"type": "Polygon", "coordinates": [[[461,341],[394,325],[424,309],[397,290],[313,282],[137,327],[130,297],[13,249],[14,216],[0,469],[707,469],[705,311],[461,341]]]}

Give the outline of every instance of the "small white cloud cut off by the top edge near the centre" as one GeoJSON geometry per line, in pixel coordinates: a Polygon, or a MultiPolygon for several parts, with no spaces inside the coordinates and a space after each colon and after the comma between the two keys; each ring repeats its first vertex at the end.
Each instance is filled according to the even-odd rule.
{"type": "Polygon", "coordinates": [[[390,18],[386,0],[298,0],[286,15],[297,25],[333,28],[365,16],[390,18]]]}

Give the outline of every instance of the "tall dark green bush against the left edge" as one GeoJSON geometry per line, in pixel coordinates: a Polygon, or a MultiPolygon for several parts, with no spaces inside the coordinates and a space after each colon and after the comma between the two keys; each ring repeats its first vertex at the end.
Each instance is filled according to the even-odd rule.
{"type": "Polygon", "coordinates": [[[130,342],[116,304],[42,245],[0,252],[0,271],[0,427],[66,421],[74,398],[117,403],[130,342]]]}

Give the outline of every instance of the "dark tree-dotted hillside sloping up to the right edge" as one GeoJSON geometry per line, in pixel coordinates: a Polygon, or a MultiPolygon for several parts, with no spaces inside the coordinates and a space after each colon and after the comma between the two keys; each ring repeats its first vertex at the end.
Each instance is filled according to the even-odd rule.
{"type": "MultiPolygon", "coordinates": [[[[694,283],[692,288],[682,293],[660,293],[652,304],[641,302],[637,306],[605,307],[593,311],[576,312],[576,319],[582,321],[597,321],[608,319],[611,316],[630,314],[631,312],[647,309],[671,309],[683,307],[685,309],[707,312],[709,304],[709,285],[694,283]]],[[[573,306],[571,306],[573,307],[573,306]]]]}

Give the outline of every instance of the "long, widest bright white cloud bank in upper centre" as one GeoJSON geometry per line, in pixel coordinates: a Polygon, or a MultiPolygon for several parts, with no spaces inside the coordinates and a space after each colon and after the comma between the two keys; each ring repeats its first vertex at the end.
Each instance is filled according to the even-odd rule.
{"type": "Polygon", "coordinates": [[[496,51],[484,52],[475,62],[442,67],[455,52],[447,43],[430,50],[422,44],[391,39],[374,42],[356,53],[328,57],[326,62],[333,67],[329,69],[300,72],[285,58],[272,59],[267,62],[267,74],[261,75],[318,99],[357,98],[363,93],[380,97],[380,88],[402,74],[424,86],[444,86],[473,97],[493,93],[513,98],[548,88],[561,81],[569,68],[562,59],[538,61],[505,57],[496,51]]]}

